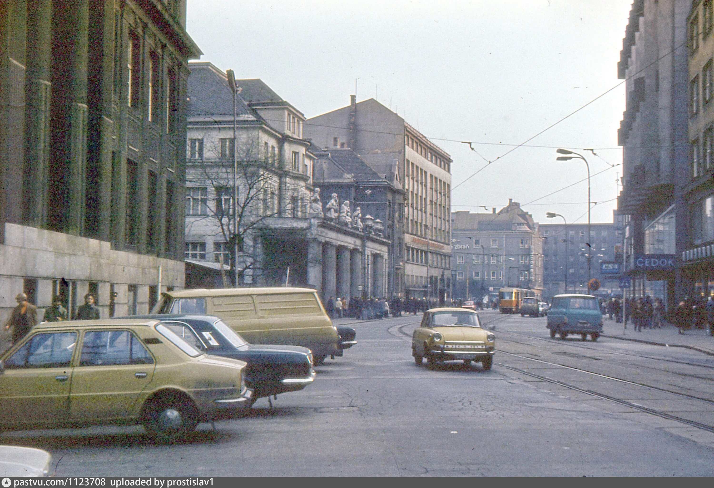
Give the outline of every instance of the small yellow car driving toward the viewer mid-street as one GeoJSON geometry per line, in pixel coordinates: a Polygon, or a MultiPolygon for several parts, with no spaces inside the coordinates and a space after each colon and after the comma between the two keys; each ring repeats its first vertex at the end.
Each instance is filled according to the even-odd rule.
{"type": "Polygon", "coordinates": [[[495,347],[496,336],[481,327],[478,313],[464,308],[427,310],[411,339],[411,354],[417,365],[426,357],[428,365],[451,360],[469,365],[476,361],[484,370],[491,370],[495,347]]]}

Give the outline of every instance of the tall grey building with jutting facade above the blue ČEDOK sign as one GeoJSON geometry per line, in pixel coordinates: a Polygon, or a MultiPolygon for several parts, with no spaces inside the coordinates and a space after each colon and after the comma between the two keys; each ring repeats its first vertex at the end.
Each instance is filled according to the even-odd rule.
{"type": "Polygon", "coordinates": [[[635,0],[618,63],[618,77],[626,80],[618,131],[623,146],[618,213],[627,224],[626,273],[635,278],[630,293],[660,296],[667,305],[675,295],[690,293],[683,271],[683,253],[691,247],[685,200],[693,171],[690,148],[692,158],[702,156],[694,150],[700,140],[690,145],[687,136],[690,116],[696,117],[701,106],[701,75],[690,79],[687,74],[688,51],[700,51],[701,39],[696,21],[687,41],[690,6],[686,0],[635,0]]]}

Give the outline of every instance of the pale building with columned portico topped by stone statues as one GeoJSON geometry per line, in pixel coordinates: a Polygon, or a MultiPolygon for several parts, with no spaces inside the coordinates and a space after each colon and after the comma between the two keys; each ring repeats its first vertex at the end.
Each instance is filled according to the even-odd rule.
{"type": "MultiPolygon", "coordinates": [[[[341,160],[350,161],[340,166],[328,153],[313,153],[303,138],[303,113],[259,79],[236,80],[233,139],[233,92],[226,73],[211,63],[189,66],[186,268],[192,275],[187,286],[233,283],[235,268],[230,268],[237,264],[243,286],[310,286],[324,300],[385,295],[391,240],[380,222],[368,225],[366,214],[362,220],[354,215],[355,200],[361,203],[368,195],[357,174],[363,161],[341,153],[341,160]],[[337,183],[329,175],[341,178],[344,192],[327,184],[337,183]],[[320,185],[330,194],[316,191],[320,185]],[[361,188],[360,195],[355,188],[361,188]]],[[[368,177],[379,178],[373,172],[368,177]]]]}

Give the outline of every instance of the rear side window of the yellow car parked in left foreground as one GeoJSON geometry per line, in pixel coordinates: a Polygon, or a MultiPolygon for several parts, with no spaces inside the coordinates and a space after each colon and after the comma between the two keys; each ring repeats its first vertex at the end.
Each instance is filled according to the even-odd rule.
{"type": "Polygon", "coordinates": [[[84,333],[80,366],[150,365],[154,362],[139,337],[129,330],[91,330],[84,333]]]}

